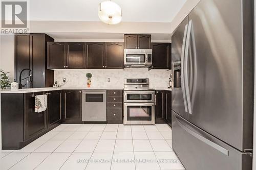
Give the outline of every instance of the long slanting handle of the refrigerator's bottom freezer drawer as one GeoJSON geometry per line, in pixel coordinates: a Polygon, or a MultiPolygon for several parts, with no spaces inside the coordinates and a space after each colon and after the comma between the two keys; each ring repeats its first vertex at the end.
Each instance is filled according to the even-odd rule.
{"type": "Polygon", "coordinates": [[[225,154],[228,156],[228,150],[226,150],[225,148],[221,147],[219,144],[216,144],[215,142],[212,142],[211,140],[199,135],[198,133],[194,132],[193,130],[190,130],[189,128],[187,128],[185,125],[183,125],[180,120],[177,118],[177,116],[175,116],[177,123],[179,124],[180,127],[182,127],[187,133],[189,133],[190,135],[193,135],[194,137],[198,138],[199,140],[201,140],[202,142],[208,144],[210,147],[215,148],[216,150],[220,151],[221,153],[225,154]]]}

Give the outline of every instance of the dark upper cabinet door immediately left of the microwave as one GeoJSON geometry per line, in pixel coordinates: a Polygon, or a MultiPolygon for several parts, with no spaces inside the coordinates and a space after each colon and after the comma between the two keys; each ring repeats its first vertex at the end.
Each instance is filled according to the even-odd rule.
{"type": "Polygon", "coordinates": [[[123,43],[105,43],[105,68],[123,69],[123,43]]]}

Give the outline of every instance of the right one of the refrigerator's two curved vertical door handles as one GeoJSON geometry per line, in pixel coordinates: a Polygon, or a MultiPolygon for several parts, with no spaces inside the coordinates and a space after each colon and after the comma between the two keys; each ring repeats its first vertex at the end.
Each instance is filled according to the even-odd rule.
{"type": "Polygon", "coordinates": [[[187,107],[188,113],[192,114],[192,107],[191,107],[191,99],[189,93],[189,86],[188,86],[188,52],[189,52],[189,43],[191,37],[191,26],[192,20],[188,22],[188,30],[187,30],[187,39],[186,39],[186,47],[185,47],[185,55],[184,55],[184,77],[185,77],[185,91],[186,91],[186,98],[187,98],[187,107]]]}

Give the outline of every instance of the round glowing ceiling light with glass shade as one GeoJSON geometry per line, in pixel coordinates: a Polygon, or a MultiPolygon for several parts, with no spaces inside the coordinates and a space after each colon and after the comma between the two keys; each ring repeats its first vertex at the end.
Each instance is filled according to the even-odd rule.
{"type": "Polygon", "coordinates": [[[122,20],[122,10],[112,1],[104,1],[99,4],[99,18],[108,24],[117,24],[122,20]]]}

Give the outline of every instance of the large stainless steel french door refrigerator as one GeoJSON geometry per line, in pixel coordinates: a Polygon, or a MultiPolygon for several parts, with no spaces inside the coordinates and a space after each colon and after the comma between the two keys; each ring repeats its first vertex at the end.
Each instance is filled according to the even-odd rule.
{"type": "Polygon", "coordinates": [[[201,0],[172,36],[172,142],[187,170],[252,168],[253,1],[201,0]]]}

